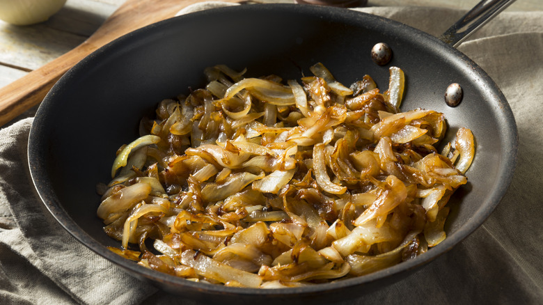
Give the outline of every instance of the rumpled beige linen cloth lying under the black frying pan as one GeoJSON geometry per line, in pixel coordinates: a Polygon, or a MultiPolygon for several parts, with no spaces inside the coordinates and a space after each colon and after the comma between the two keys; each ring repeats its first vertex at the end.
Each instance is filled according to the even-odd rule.
{"type": "MultiPolygon", "coordinates": [[[[360,10],[434,36],[465,13],[360,10]]],[[[407,279],[340,304],[543,303],[543,12],[502,13],[459,49],[496,81],[514,112],[520,146],[512,185],[485,224],[452,251],[407,279]]],[[[0,304],[196,304],[125,274],[56,223],[29,177],[31,123],[26,118],[0,130],[0,304]]]]}

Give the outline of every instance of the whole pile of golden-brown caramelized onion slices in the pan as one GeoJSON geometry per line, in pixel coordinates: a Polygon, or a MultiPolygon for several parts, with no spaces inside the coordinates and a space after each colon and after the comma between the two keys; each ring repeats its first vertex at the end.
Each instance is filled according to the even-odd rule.
{"type": "Polygon", "coordinates": [[[284,288],[375,272],[443,241],[471,131],[438,152],[445,118],[399,111],[400,68],[384,93],[368,75],[347,88],[321,63],[310,70],[283,82],[217,65],[205,88],[160,102],[103,187],[97,215],[122,241],[111,250],[191,281],[284,288]]]}

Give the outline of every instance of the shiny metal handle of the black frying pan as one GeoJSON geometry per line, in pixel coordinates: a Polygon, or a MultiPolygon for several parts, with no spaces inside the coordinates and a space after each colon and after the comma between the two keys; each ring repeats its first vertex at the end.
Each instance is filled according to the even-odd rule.
{"type": "Polygon", "coordinates": [[[505,10],[515,0],[482,0],[464,17],[460,18],[439,39],[446,44],[457,47],[472,33],[505,10]]]}

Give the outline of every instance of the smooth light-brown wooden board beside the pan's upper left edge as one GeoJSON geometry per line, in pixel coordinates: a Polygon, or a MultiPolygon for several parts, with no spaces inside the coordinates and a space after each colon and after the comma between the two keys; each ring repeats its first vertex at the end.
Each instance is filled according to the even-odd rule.
{"type": "MultiPolygon", "coordinates": [[[[236,2],[236,0],[221,0],[236,2]]],[[[0,126],[39,104],[73,65],[131,31],[174,17],[198,0],[127,0],[81,45],[0,89],[0,126]]]]}

